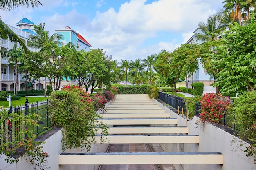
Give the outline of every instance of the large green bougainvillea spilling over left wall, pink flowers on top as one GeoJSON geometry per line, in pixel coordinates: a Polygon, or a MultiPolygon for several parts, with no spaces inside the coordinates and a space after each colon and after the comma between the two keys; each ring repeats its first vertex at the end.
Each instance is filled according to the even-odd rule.
{"type": "Polygon", "coordinates": [[[79,86],[67,85],[54,91],[50,97],[49,111],[56,126],[63,128],[63,149],[90,150],[95,133],[101,131],[101,142],[106,140],[108,127],[98,119],[93,99],[79,86]]]}

